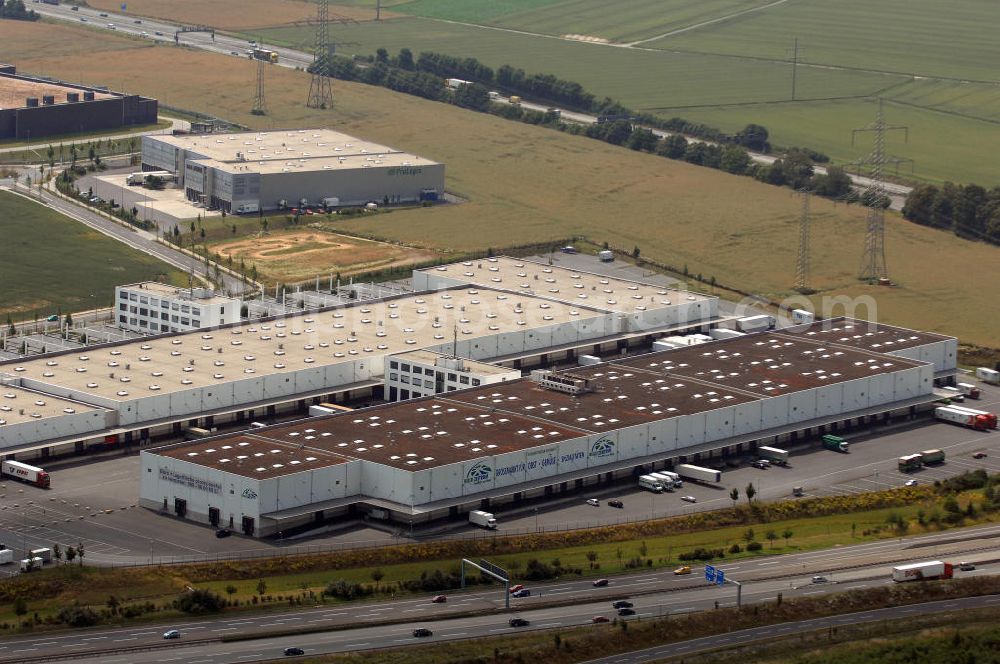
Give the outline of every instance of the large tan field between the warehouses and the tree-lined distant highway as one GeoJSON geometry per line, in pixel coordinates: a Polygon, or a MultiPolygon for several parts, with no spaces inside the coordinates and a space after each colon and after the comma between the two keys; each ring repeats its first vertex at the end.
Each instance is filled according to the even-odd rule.
{"type": "MultiPolygon", "coordinates": [[[[11,57],[0,23],[0,61],[11,57]]],[[[73,39],[74,28],[61,27],[73,39]]],[[[308,76],[268,68],[271,114],[250,114],[253,63],[175,47],[137,51],[133,89],[180,108],[252,127],[329,126],[447,164],[447,189],[468,203],[342,222],[345,229],[418,247],[465,250],[586,235],[722,284],[775,298],[795,272],[795,195],[749,178],[643,155],[541,127],[359,84],[334,84],[334,108],[307,109],[308,76]],[[225,66],[222,66],[225,65],[225,66]]],[[[57,70],[58,58],[22,60],[57,70]]],[[[95,76],[118,71],[114,50],[88,58],[95,76]]],[[[895,288],[860,285],[864,210],[814,200],[812,270],[825,295],[871,296],[879,320],[1000,347],[984,315],[984,284],[1000,283],[1000,248],[887,218],[895,288]],[[975,266],[975,279],[956,279],[975,266]]],[[[338,222],[340,224],[341,222],[338,222]]],[[[988,288],[988,286],[987,286],[988,288]]],[[[821,295],[822,295],[821,294],[821,295]]],[[[830,312],[836,313],[836,312],[830,312]]]]}

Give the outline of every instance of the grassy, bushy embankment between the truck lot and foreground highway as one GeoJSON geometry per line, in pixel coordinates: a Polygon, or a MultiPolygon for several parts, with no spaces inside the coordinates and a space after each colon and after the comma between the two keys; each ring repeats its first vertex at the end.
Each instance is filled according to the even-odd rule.
{"type": "MultiPolygon", "coordinates": [[[[489,558],[510,570],[512,583],[538,583],[893,542],[992,523],[998,514],[1000,475],[975,471],[936,486],[776,503],[744,498],[716,512],[554,534],[117,569],[60,564],[56,556],[52,568],[0,581],[0,634],[439,593],[459,586],[461,558],[489,558]]],[[[467,576],[467,584],[480,583],[489,582],[467,576]]]]}

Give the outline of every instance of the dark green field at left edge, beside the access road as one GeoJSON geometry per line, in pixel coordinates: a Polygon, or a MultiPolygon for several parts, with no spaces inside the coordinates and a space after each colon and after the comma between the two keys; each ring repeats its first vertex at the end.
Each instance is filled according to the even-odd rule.
{"type": "Polygon", "coordinates": [[[186,283],[182,272],[16,194],[0,192],[0,315],[109,306],[118,284],[186,283]]]}

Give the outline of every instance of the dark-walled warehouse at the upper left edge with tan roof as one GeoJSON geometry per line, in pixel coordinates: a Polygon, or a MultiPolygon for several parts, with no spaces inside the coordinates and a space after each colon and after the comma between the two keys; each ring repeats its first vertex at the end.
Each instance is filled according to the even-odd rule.
{"type": "Polygon", "coordinates": [[[32,140],[156,120],[155,99],[20,76],[13,65],[0,65],[0,139],[32,140]]]}

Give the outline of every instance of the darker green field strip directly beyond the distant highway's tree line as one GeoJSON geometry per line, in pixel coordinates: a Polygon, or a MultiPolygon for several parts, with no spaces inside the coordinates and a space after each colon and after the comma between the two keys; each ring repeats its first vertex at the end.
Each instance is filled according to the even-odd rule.
{"type": "MultiPolygon", "coordinates": [[[[308,41],[306,28],[260,32],[271,44],[308,41]]],[[[471,56],[494,68],[510,64],[579,81],[600,97],[639,109],[777,101],[787,99],[791,89],[791,68],[781,63],[615,48],[426,19],[336,26],[330,32],[336,41],[355,42],[351,47],[355,53],[384,47],[391,53],[409,48],[414,54],[471,56]]],[[[822,69],[800,74],[798,90],[803,98],[871,95],[901,80],[822,69]]]]}

